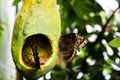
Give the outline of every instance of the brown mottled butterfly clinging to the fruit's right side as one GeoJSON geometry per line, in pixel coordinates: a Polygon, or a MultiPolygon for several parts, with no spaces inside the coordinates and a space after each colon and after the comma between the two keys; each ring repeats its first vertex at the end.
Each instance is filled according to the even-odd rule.
{"type": "Polygon", "coordinates": [[[63,56],[63,60],[65,62],[71,62],[75,57],[77,50],[86,45],[87,40],[77,34],[70,33],[64,36],[61,36],[59,42],[60,53],[63,56]]]}

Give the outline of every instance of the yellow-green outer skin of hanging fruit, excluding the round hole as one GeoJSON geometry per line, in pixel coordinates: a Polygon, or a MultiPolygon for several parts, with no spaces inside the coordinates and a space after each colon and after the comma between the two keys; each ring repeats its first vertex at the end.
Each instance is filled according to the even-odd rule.
{"type": "Polygon", "coordinates": [[[12,37],[12,56],[16,68],[26,79],[36,80],[49,72],[58,58],[58,42],[61,35],[60,15],[56,0],[24,0],[23,6],[17,15],[12,37]],[[52,56],[41,66],[35,69],[27,66],[22,60],[22,48],[25,39],[35,34],[43,34],[52,46],[52,56]]]}

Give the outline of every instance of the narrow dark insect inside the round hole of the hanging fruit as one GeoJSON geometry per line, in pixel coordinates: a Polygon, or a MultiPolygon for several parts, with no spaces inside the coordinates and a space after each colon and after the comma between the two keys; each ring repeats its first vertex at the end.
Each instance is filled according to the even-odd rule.
{"type": "Polygon", "coordinates": [[[29,44],[31,46],[31,49],[32,49],[32,53],[33,53],[33,56],[34,56],[34,60],[35,60],[35,67],[37,69],[40,69],[40,61],[39,61],[39,56],[38,56],[38,52],[37,52],[37,46],[33,45],[35,44],[34,42],[34,38],[28,38],[29,39],[29,44]]]}

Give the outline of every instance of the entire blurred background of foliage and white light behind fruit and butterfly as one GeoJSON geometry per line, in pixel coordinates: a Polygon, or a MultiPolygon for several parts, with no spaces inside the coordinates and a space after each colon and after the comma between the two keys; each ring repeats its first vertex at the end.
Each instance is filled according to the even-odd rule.
{"type": "MultiPolygon", "coordinates": [[[[17,80],[11,56],[14,21],[21,0],[0,0],[0,80],[17,80]]],[[[39,80],[120,80],[120,0],[57,0],[62,35],[88,40],[71,63],[61,56],[39,80]]],[[[51,16],[52,17],[52,16],[51,16]]]]}

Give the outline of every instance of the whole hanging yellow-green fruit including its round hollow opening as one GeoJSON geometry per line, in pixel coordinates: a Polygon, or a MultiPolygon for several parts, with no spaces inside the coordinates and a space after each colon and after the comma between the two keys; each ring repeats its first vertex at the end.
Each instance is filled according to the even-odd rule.
{"type": "Polygon", "coordinates": [[[17,70],[26,79],[36,80],[55,66],[60,35],[56,0],[24,0],[15,20],[11,50],[17,70]]]}

